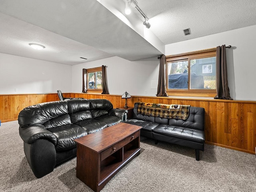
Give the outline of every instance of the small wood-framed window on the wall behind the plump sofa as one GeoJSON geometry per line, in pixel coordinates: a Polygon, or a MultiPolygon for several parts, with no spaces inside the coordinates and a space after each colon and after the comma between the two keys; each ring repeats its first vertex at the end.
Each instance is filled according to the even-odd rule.
{"type": "Polygon", "coordinates": [[[87,92],[102,92],[102,68],[87,69],[87,92]]]}

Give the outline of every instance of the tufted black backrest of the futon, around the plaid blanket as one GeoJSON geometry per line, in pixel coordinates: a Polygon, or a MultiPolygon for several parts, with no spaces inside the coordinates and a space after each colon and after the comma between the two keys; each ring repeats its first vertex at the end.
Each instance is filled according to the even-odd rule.
{"type": "Polygon", "coordinates": [[[138,114],[138,103],[134,104],[133,118],[144,121],[157,122],[160,124],[169,124],[204,130],[204,108],[190,106],[188,119],[167,119],[138,114]]]}

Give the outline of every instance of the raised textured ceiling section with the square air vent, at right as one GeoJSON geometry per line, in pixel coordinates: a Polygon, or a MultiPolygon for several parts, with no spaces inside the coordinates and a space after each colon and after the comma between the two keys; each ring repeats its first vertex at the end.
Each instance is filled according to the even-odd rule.
{"type": "Polygon", "coordinates": [[[152,32],[171,44],[256,25],[256,0],[138,0],[152,32]],[[190,28],[184,36],[182,30],[190,28]]]}

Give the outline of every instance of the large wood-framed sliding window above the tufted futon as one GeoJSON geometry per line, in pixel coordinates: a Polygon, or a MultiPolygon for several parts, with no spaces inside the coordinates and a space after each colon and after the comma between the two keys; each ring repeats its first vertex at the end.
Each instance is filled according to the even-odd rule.
{"type": "Polygon", "coordinates": [[[168,95],[215,96],[216,48],[166,56],[168,95]]]}

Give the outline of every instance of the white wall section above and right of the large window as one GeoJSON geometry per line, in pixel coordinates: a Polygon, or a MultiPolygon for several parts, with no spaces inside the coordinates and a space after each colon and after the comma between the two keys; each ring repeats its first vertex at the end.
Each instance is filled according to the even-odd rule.
{"type": "Polygon", "coordinates": [[[228,85],[236,100],[256,100],[256,25],[166,45],[166,55],[214,48],[226,44],[228,85]]]}

